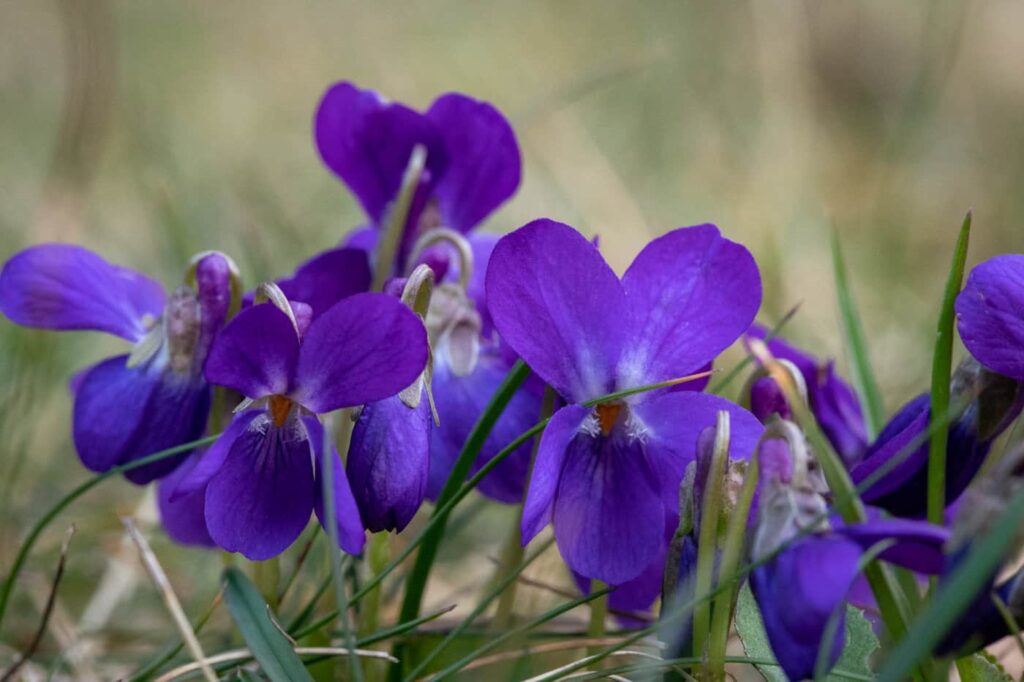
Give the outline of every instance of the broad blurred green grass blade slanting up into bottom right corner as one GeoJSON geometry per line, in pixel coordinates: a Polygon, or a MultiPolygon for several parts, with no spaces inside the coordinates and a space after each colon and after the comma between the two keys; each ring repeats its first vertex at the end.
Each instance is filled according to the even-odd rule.
{"type": "Polygon", "coordinates": [[[886,658],[879,676],[881,682],[902,682],[931,655],[949,628],[956,624],[975,596],[995,574],[1022,519],[1024,491],[1018,491],[991,530],[974,543],[956,570],[939,585],[935,598],[910,624],[906,637],[900,639],[886,658]]]}

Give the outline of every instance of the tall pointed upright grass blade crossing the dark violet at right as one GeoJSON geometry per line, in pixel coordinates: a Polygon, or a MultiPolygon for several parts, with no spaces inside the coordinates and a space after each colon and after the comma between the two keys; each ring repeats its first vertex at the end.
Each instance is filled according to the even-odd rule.
{"type": "MultiPolygon", "coordinates": [[[[935,337],[935,353],[932,356],[932,402],[933,415],[944,414],[949,409],[949,377],[953,361],[953,324],[956,312],[953,304],[964,284],[964,267],[967,262],[967,247],[971,238],[971,212],[968,211],[956,238],[946,290],[942,296],[938,329],[935,337]]],[[[946,510],[946,441],[948,429],[939,429],[932,434],[928,445],[928,520],[942,525],[946,510]]]]}

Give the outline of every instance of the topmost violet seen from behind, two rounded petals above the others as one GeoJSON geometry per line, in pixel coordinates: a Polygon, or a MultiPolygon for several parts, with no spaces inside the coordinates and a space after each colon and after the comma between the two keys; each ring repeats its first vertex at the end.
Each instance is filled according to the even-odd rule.
{"type": "MultiPolygon", "coordinates": [[[[423,233],[437,226],[469,232],[519,185],[512,127],[490,104],[459,93],[441,95],[420,114],[372,90],[337,83],[321,100],[314,135],[324,163],[378,228],[398,195],[413,148],[426,148],[426,168],[396,253],[396,275],[412,271],[415,263],[408,257],[423,233]]],[[[360,232],[349,246],[371,250],[375,243],[360,232]]]]}

